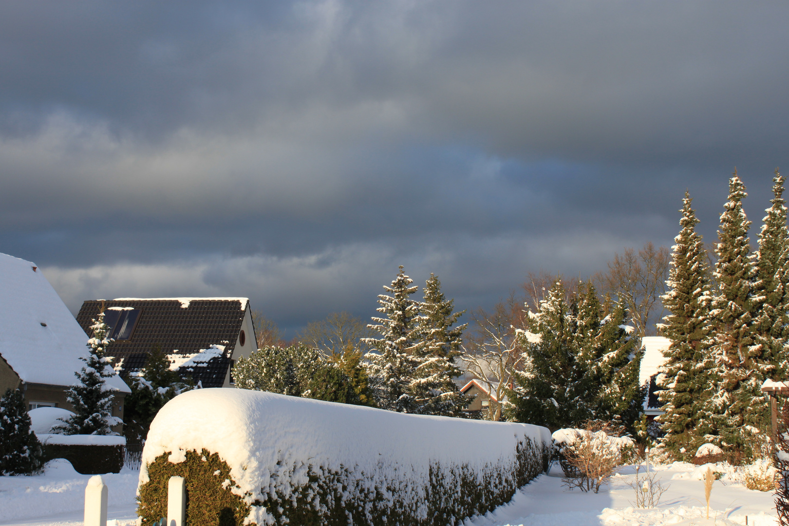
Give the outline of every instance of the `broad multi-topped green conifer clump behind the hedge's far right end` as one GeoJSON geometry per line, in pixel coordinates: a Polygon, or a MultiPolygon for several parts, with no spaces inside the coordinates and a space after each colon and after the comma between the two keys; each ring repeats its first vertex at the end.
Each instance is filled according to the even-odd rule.
{"type": "Polygon", "coordinates": [[[634,352],[632,327],[624,325],[625,309],[611,300],[600,304],[591,283],[581,283],[569,304],[565,297],[557,281],[539,311],[529,312],[532,337],[522,339],[527,359],[515,375],[507,417],[552,429],[588,420],[631,427],[643,393],[641,355],[634,352]]]}

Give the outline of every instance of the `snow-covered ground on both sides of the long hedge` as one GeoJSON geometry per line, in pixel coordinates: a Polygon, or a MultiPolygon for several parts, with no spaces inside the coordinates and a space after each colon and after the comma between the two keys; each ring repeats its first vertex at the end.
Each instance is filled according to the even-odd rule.
{"type": "MultiPolygon", "coordinates": [[[[656,509],[634,509],[634,491],[627,482],[634,468],[619,476],[599,494],[566,491],[561,470],[540,476],[506,505],[484,517],[466,520],[466,526],[630,526],[663,524],[777,524],[772,493],[751,491],[739,483],[716,481],[712,487],[710,519],[705,520],[704,483],[692,477],[695,466],[670,464],[657,472],[668,491],[656,509]]],[[[124,468],[105,475],[109,487],[108,526],[132,526],[136,522],[134,500],[139,472],[124,468]]],[[[82,524],[84,488],[90,476],[80,475],[67,461],[51,461],[39,476],[0,477],[0,525],[77,526],[82,524]]]]}

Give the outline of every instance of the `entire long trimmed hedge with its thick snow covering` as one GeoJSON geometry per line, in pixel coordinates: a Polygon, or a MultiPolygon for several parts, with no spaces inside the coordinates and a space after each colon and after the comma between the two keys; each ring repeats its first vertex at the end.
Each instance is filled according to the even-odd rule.
{"type": "Polygon", "coordinates": [[[179,475],[190,526],[458,524],[544,472],[550,447],[548,429],[522,423],[193,390],[151,423],[138,513],[144,524],[162,517],[179,475]]]}

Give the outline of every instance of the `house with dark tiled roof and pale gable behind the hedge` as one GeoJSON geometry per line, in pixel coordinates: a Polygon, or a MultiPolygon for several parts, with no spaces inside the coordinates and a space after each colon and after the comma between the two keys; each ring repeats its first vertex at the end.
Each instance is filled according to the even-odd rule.
{"type": "Polygon", "coordinates": [[[109,353],[122,375],[145,367],[148,353],[161,347],[170,369],[203,387],[230,387],[230,369],[239,356],[256,350],[249,300],[234,298],[116,298],[88,300],[77,322],[91,334],[92,319],[104,304],[111,327],[109,353]]]}

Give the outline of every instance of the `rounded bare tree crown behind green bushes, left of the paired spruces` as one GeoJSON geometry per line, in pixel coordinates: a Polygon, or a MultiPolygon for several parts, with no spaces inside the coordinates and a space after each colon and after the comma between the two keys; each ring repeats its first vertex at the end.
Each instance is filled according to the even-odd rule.
{"type": "Polygon", "coordinates": [[[320,322],[308,323],[298,339],[327,356],[340,356],[346,349],[356,349],[364,355],[369,350],[364,338],[372,338],[375,334],[376,331],[361,319],[343,311],[333,312],[320,322]]]}

